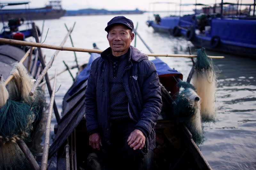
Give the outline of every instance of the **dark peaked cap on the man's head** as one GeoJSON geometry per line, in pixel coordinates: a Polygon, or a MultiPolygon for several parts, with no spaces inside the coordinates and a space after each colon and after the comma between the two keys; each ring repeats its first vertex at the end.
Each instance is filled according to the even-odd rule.
{"type": "Polygon", "coordinates": [[[133,30],[133,22],[131,19],[125,18],[124,16],[117,16],[112,18],[108,22],[108,26],[105,28],[105,31],[109,31],[109,28],[113,26],[114,24],[122,24],[124,26],[127,26],[129,29],[133,30]]]}

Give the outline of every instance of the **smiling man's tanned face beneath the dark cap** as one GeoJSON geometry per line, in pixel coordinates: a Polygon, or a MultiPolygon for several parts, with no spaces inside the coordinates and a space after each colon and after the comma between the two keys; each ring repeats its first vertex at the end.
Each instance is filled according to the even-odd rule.
{"type": "Polygon", "coordinates": [[[118,24],[109,29],[107,39],[113,55],[120,56],[128,51],[134,39],[134,33],[131,33],[126,26],[118,24]]]}

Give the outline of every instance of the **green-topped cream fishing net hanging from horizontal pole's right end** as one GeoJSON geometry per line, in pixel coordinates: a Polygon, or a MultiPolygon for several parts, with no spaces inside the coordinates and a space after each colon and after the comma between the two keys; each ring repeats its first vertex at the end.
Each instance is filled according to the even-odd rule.
{"type": "Polygon", "coordinates": [[[195,72],[191,83],[200,96],[202,121],[215,122],[216,74],[212,59],[207,56],[205,48],[197,51],[195,72]]]}

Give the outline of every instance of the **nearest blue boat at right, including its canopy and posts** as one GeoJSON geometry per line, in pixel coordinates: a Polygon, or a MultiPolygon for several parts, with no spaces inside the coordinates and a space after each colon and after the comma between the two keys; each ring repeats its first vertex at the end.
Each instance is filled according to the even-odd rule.
{"type": "MultiPolygon", "coordinates": [[[[256,58],[256,18],[250,16],[249,11],[246,12],[247,15],[238,13],[237,16],[225,16],[223,13],[224,4],[231,3],[222,3],[220,14],[196,15],[196,25],[188,28],[185,38],[196,47],[256,58]]],[[[255,4],[239,5],[255,6],[255,4]]]]}

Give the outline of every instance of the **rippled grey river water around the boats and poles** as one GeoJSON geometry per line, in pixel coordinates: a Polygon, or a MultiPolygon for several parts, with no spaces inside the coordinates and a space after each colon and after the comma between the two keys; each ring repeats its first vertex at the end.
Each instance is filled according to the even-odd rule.
{"type": "MultiPolygon", "coordinates": [[[[46,20],[44,23],[43,39],[47,29],[48,34],[45,44],[60,45],[68,28],[76,25],[71,36],[75,47],[92,48],[96,43],[100,49],[108,48],[107,33],[104,28],[107,22],[113,18],[106,16],[76,16],[62,17],[60,19],[46,20]]],[[[155,33],[146,25],[148,14],[127,15],[133,20],[134,25],[138,22],[137,31],[147,42],[154,53],[164,54],[188,54],[188,46],[192,47],[192,53],[196,54],[196,48],[182,37],[172,37],[163,33],[155,33]]],[[[35,21],[41,29],[43,21],[35,21]]],[[[31,41],[34,41],[32,38],[31,41]]],[[[134,42],[132,42],[134,45],[134,42]]],[[[71,47],[68,39],[65,46],[71,47]]],[[[136,47],[144,53],[149,53],[142,42],[137,39],[136,47]]],[[[216,116],[217,122],[205,123],[205,142],[200,146],[204,157],[208,160],[212,169],[256,169],[256,67],[255,60],[243,58],[224,53],[206,51],[208,55],[225,56],[225,59],[214,59],[214,64],[219,68],[218,87],[216,92],[216,116]]],[[[43,49],[46,61],[49,61],[54,50],[43,49]]],[[[88,53],[76,52],[78,63],[87,62],[88,53]]],[[[161,57],[171,68],[180,71],[184,80],[187,79],[192,63],[187,58],[161,57]]],[[[65,68],[62,61],[69,66],[75,65],[74,53],[60,51],[52,68],[48,71],[50,77],[54,75],[55,69],[61,71],[65,68]]],[[[72,70],[75,76],[77,70],[72,70]]],[[[61,113],[61,102],[65,92],[72,85],[72,78],[68,72],[58,76],[57,86],[60,89],[55,95],[59,112],[61,113]]],[[[49,96],[46,96],[49,100],[49,96]]],[[[52,119],[53,127],[56,121],[52,119]]],[[[170,153],[171,154],[171,153],[170,153]]]]}

